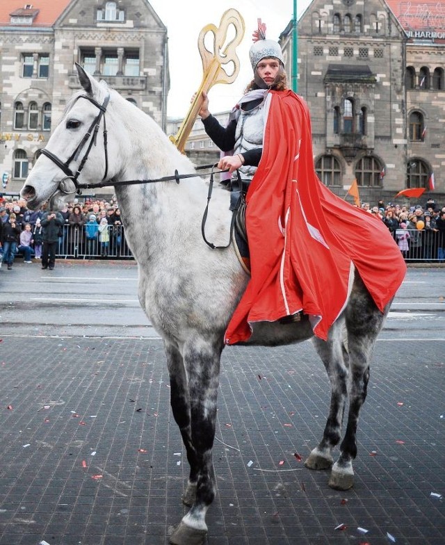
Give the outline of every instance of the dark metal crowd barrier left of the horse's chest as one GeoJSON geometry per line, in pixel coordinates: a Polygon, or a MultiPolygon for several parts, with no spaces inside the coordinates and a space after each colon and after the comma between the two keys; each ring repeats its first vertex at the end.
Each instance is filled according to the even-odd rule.
{"type": "Polygon", "coordinates": [[[58,239],[56,257],[59,259],[133,259],[122,225],[108,225],[108,242],[101,241],[100,232],[87,238],[85,226],[64,225],[58,239]]]}

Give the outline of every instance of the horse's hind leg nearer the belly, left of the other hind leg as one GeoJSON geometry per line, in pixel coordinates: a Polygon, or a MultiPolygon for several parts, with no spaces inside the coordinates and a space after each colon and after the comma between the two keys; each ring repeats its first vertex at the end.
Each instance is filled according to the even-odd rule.
{"type": "Polygon", "coordinates": [[[325,366],[331,384],[331,401],[323,438],[305,461],[309,469],[330,469],[332,449],[341,439],[341,426],[348,396],[347,353],[343,343],[344,318],[332,325],[327,341],[314,337],[313,342],[325,366]]]}

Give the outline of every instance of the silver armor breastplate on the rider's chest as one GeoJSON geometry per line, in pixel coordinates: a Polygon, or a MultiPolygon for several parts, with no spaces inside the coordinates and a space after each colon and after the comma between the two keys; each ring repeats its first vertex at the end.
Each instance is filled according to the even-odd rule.
{"type": "MultiPolygon", "coordinates": [[[[234,154],[263,147],[264,104],[263,101],[250,111],[241,110],[236,124],[234,154]]],[[[243,179],[251,180],[257,167],[242,166],[239,170],[243,179]]]]}

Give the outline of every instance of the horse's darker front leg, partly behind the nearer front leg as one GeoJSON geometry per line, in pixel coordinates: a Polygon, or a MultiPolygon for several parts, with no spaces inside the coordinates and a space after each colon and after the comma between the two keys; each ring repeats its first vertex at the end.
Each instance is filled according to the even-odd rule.
{"type": "Polygon", "coordinates": [[[170,405],[173,417],[181,432],[182,441],[186,447],[190,474],[188,475],[187,488],[182,496],[182,502],[189,507],[195,503],[197,483],[197,459],[191,436],[190,393],[184,360],[175,346],[164,343],[167,368],[170,375],[170,405]]]}

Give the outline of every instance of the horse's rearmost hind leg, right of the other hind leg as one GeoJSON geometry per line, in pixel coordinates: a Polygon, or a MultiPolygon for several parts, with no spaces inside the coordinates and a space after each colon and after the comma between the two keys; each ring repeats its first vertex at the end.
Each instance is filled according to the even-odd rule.
{"type": "Polygon", "coordinates": [[[354,484],[353,459],[357,456],[357,425],[360,409],[366,399],[369,362],[389,310],[388,304],[385,312],[380,312],[361,279],[356,279],[357,284],[358,288],[351,293],[346,308],[350,366],[348,423],[340,445],[339,459],[332,466],[328,483],[337,490],[347,490],[354,484]]]}

